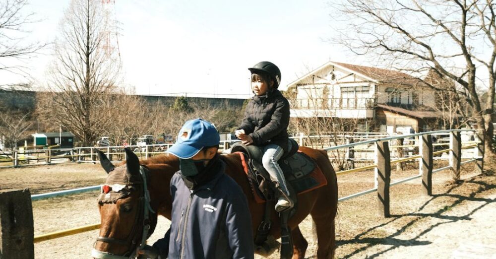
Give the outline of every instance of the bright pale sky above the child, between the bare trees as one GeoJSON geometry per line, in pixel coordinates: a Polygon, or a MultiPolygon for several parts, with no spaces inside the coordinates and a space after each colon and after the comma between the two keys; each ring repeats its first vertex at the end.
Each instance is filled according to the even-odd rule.
{"type": "MultiPolygon", "coordinates": [[[[29,8],[43,19],[31,38],[53,41],[69,2],[31,0],[29,8]]],[[[125,83],[137,94],[247,97],[247,68],[266,60],[281,68],[285,89],[328,60],[357,63],[323,41],[333,33],[330,13],[326,0],[116,0],[125,83]]],[[[38,84],[51,59],[39,55],[27,64],[38,84]]]]}

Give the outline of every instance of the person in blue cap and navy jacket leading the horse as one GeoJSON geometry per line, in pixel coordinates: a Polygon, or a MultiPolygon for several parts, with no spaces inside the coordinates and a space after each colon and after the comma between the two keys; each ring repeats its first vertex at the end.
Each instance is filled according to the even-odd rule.
{"type": "Polygon", "coordinates": [[[219,132],[202,119],[190,120],[167,153],[179,157],[171,180],[171,227],[149,258],[253,258],[248,202],[241,187],[224,173],[219,132]]]}

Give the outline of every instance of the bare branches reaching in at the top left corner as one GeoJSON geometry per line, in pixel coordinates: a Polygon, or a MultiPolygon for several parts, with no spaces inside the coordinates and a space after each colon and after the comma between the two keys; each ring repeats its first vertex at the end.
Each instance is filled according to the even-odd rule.
{"type": "MultiPolygon", "coordinates": [[[[26,67],[14,65],[15,60],[23,60],[32,56],[46,44],[26,43],[24,29],[28,23],[36,22],[34,13],[24,13],[27,0],[0,0],[0,74],[15,73],[31,80],[26,67]]],[[[1,76],[0,76],[1,77],[1,76]]],[[[5,83],[0,82],[0,89],[29,86],[29,82],[5,83]]]]}

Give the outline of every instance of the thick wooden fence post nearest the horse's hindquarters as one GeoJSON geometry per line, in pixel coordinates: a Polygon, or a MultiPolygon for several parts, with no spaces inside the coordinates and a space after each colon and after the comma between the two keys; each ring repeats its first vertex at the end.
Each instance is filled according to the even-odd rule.
{"type": "Polygon", "coordinates": [[[377,175],[378,212],[380,216],[389,217],[389,184],[391,183],[391,158],[388,141],[376,143],[377,156],[375,173],[377,175]]]}

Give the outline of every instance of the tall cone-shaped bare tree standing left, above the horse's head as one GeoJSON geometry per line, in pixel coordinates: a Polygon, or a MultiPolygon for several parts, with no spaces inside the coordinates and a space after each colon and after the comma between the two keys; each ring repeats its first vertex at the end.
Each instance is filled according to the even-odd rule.
{"type": "Polygon", "coordinates": [[[83,145],[93,144],[109,118],[108,95],[116,88],[120,63],[109,54],[106,20],[98,0],[72,0],[65,10],[50,83],[38,111],[70,130],[83,145]]]}

